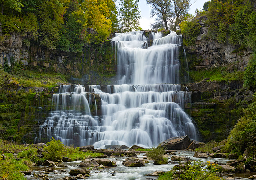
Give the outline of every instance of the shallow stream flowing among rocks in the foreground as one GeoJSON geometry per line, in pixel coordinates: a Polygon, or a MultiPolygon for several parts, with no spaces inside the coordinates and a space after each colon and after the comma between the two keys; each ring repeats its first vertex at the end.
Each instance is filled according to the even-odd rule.
{"type": "MultiPolygon", "coordinates": [[[[218,163],[225,164],[227,161],[230,161],[232,159],[222,159],[222,158],[208,158],[208,159],[200,159],[193,157],[194,152],[191,151],[182,151],[177,150],[176,155],[180,156],[187,156],[191,160],[201,160],[202,162],[210,161],[211,163],[218,161],[218,163]]],[[[138,158],[145,158],[143,156],[144,154],[138,155],[138,158]]],[[[171,161],[171,156],[168,157],[169,162],[171,161]]],[[[106,159],[110,159],[111,161],[115,161],[117,164],[117,167],[114,168],[105,168],[101,170],[91,170],[90,177],[88,179],[96,179],[96,180],[110,180],[110,179],[118,179],[118,180],[154,180],[158,177],[154,176],[145,176],[146,174],[153,173],[155,171],[169,171],[171,170],[174,165],[178,164],[178,161],[171,161],[171,163],[166,165],[154,165],[153,161],[149,160],[148,164],[145,164],[144,167],[125,167],[122,165],[122,161],[126,159],[127,157],[108,157],[106,159]]],[[[32,174],[47,174],[49,179],[57,180],[62,179],[64,177],[70,176],[68,172],[71,169],[77,169],[80,168],[77,165],[81,163],[80,161],[72,161],[72,162],[66,162],[62,163],[66,165],[67,167],[44,167],[44,166],[34,166],[32,168],[32,174]],[[44,170],[52,169],[55,170],[55,172],[45,172],[44,170]],[[66,172],[61,172],[61,170],[64,170],[66,172]]],[[[227,177],[228,175],[232,174],[233,178],[235,179],[247,179],[249,176],[252,176],[255,173],[221,173],[220,176],[227,177]]],[[[34,177],[33,175],[25,176],[27,179],[39,179],[37,177],[34,177]]],[[[71,176],[70,176],[71,177],[71,176]]]]}

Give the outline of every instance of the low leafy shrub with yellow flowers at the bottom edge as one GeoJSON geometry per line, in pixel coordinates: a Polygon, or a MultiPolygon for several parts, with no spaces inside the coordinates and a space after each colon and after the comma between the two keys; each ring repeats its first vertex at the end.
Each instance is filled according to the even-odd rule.
{"type": "Polygon", "coordinates": [[[193,165],[187,164],[184,173],[180,174],[179,180],[220,180],[212,171],[202,168],[202,162],[195,161],[193,165]]]}

